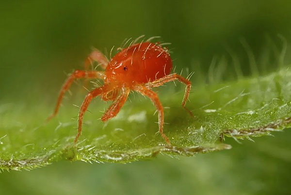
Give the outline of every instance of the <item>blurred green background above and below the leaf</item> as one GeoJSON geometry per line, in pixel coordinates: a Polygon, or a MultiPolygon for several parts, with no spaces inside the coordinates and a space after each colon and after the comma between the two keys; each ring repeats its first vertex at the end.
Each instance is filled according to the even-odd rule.
{"type": "MultiPolygon", "coordinates": [[[[64,72],[82,68],[91,46],[110,51],[142,34],[172,43],[177,70],[199,68],[207,74],[215,55],[232,63],[229,49],[243,75],[250,75],[242,38],[259,72],[274,70],[283,47],[277,34],[290,40],[291,2],[1,1],[0,27],[0,104],[31,101],[37,94],[36,102],[52,106],[64,72]]],[[[285,62],[290,62],[288,52],[285,62]]],[[[226,79],[235,78],[230,73],[226,79]]],[[[232,150],[196,158],[160,155],[128,165],[61,162],[4,172],[0,194],[290,194],[290,139],[287,130],[256,138],[256,143],[227,139],[232,150]]]]}

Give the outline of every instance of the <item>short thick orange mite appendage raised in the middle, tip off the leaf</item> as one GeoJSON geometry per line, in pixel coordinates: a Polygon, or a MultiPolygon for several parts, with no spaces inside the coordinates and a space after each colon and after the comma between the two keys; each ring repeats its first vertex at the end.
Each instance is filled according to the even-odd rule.
{"type": "Polygon", "coordinates": [[[129,96],[129,91],[130,91],[129,88],[122,88],[119,97],[115,100],[115,102],[112,105],[109,106],[105,114],[101,117],[102,121],[109,120],[118,114],[119,110],[124,105],[129,96]]]}

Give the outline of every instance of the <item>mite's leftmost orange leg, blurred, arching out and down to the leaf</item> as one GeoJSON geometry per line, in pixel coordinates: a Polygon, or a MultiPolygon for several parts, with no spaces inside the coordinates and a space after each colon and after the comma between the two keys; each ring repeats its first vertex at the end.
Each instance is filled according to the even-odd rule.
{"type": "Polygon", "coordinates": [[[67,91],[69,89],[69,87],[71,86],[71,84],[73,83],[73,81],[76,78],[105,79],[105,77],[103,75],[103,72],[100,72],[100,71],[81,71],[81,70],[76,70],[74,73],[69,75],[69,77],[66,79],[63,87],[60,90],[58,101],[57,101],[57,104],[55,106],[54,112],[52,113],[52,115],[49,116],[49,118],[47,120],[50,120],[51,118],[56,116],[56,114],[58,113],[59,107],[61,105],[62,99],[64,97],[65,91],[67,91]]]}

